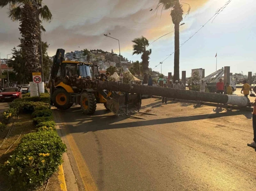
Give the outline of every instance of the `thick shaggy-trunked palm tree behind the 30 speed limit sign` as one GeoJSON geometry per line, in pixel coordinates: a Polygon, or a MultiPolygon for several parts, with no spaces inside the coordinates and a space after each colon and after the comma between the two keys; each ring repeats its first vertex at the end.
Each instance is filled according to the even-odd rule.
{"type": "Polygon", "coordinates": [[[41,26],[39,17],[44,21],[50,21],[52,15],[49,8],[46,5],[42,6],[42,0],[0,0],[0,7],[7,5],[10,6],[8,14],[11,20],[20,21],[21,48],[25,53],[28,72],[38,71],[41,67],[43,76],[41,30],[45,29],[41,26]]]}

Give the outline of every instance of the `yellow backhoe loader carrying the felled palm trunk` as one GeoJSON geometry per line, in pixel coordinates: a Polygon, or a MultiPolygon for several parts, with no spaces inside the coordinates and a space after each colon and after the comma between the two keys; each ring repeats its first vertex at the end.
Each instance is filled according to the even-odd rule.
{"type": "MultiPolygon", "coordinates": [[[[54,56],[53,66],[51,67],[50,78],[48,88],[50,88],[50,100],[51,103],[60,110],[69,109],[74,103],[81,105],[81,110],[84,114],[93,114],[96,110],[97,103],[104,104],[106,109],[110,109],[112,112],[118,115],[118,111],[121,110],[124,105],[124,95],[120,95],[114,91],[97,91],[93,88],[79,88],[81,86],[69,86],[63,83],[65,77],[78,77],[85,79],[98,79],[105,80],[99,77],[99,70],[97,65],[92,63],[79,62],[79,61],[66,61],[65,50],[58,49],[54,56]],[[107,108],[107,101],[113,99],[107,108]],[[116,101],[114,101],[116,100],[116,101]]],[[[126,98],[127,100],[127,98],[126,98]]],[[[139,103],[140,99],[137,94],[129,96],[130,105],[139,103]]],[[[141,102],[140,102],[141,103],[141,102]]],[[[140,105],[140,104],[139,104],[140,105]]],[[[138,107],[138,104],[134,105],[134,108],[138,107]]]]}

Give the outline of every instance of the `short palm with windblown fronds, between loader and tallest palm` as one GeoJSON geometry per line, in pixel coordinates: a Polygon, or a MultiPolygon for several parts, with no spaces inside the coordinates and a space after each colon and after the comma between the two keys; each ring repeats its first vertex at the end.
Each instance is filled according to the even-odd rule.
{"type": "Polygon", "coordinates": [[[148,39],[145,37],[141,36],[139,38],[135,38],[132,40],[133,44],[133,55],[134,54],[141,54],[141,59],[142,59],[142,67],[143,67],[143,82],[144,84],[147,84],[148,78],[147,78],[147,73],[148,73],[148,64],[149,64],[149,59],[150,59],[150,54],[151,54],[151,49],[147,50],[147,47],[149,46],[148,39]]]}

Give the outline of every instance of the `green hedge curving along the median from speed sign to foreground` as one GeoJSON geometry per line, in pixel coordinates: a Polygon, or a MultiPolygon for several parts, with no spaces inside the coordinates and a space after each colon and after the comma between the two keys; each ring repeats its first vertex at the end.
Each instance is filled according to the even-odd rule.
{"type": "Polygon", "coordinates": [[[7,175],[8,183],[16,190],[42,185],[62,162],[66,145],[56,132],[49,102],[48,93],[41,94],[40,98],[23,97],[13,101],[5,112],[6,119],[20,113],[32,113],[33,123],[38,130],[26,134],[10,159],[0,165],[0,173],[7,175]]]}

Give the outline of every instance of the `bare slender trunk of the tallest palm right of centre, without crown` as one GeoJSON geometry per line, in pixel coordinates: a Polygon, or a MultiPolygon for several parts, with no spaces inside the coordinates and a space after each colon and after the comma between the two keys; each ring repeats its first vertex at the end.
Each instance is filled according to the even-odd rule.
{"type": "Polygon", "coordinates": [[[174,74],[173,79],[179,80],[179,23],[174,24],[174,74]]]}

